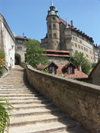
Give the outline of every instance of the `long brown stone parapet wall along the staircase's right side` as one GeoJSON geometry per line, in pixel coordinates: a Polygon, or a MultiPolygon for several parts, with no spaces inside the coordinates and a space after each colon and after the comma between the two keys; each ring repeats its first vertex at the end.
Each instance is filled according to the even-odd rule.
{"type": "Polygon", "coordinates": [[[29,83],[63,112],[92,133],[100,132],[100,86],[43,73],[29,65],[26,71],[29,83]]]}

